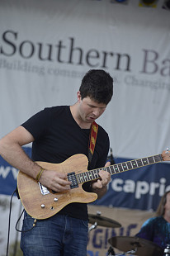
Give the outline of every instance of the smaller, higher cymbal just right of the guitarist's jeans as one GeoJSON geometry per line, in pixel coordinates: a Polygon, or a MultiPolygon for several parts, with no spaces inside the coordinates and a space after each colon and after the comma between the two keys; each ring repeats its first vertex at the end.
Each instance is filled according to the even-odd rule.
{"type": "Polygon", "coordinates": [[[88,215],[88,220],[89,220],[89,223],[91,224],[94,224],[95,222],[97,222],[97,225],[102,225],[109,228],[120,228],[121,226],[120,223],[117,222],[116,220],[111,220],[109,218],[93,215],[93,214],[88,215]]]}

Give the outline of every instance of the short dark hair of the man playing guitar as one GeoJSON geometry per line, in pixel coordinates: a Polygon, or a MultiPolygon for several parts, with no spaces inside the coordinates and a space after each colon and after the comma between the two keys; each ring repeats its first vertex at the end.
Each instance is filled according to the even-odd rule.
{"type": "Polygon", "coordinates": [[[82,99],[90,97],[107,105],[113,95],[113,78],[102,69],[91,69],[83,77],[79,91],[82,99]]]}

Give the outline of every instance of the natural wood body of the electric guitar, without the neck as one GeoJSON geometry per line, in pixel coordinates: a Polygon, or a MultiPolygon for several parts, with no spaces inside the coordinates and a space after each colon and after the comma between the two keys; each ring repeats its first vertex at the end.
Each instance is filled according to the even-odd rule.
{"type": "MultiPolygon", "coordinates": [[[[84,173],[87,172],[88,160],[84,154],[76,154],[68,158],[61,164],[50,164],[46,162],[36,162],[41,167],[55,170],[62,173],[84,173]]],[[[97,199],[97,194],[85,192],[82,184],[66,192],[50,192],[43,195],[40,192],[39,183],[21,171],[18,173],[17,187],[21,203],[27,213],[35,219],[46,219],[54,216],[58,211],[72,202],[88,203],[97,199]],[[58,200],[56,201],[57,198],[58,200]],[[42,206],[45,206],[44,208],[42,206]]]]}

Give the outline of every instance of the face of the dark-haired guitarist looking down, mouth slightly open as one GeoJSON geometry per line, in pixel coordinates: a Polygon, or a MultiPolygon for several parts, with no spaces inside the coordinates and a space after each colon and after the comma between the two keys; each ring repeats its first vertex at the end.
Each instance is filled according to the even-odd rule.
{"type": "Polygon", "coordinates": [[[92,123],[106,110],[106,104],[97,103],[90,97],[84,97],[82,100],[81,95],[78,95],[79,102],[79,115],[85,122],[92,123]]]}

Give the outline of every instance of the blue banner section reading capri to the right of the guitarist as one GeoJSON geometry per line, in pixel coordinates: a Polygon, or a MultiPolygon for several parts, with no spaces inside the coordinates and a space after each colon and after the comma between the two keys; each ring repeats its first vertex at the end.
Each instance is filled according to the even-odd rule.
{"type": "MultiPolygon", "coordinates": [[[[116,159],[116,164],[129,160],[116,159]]],[[[116,173],[106,195],[93,204],[155,211],[163,193],[170,190],[169,170],[169,164],[158,163],[116,173]]]]}

